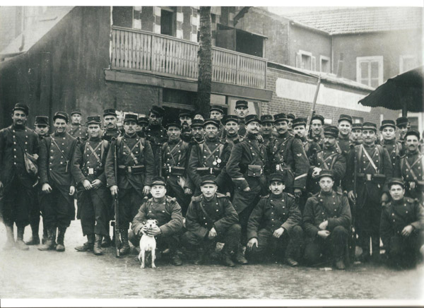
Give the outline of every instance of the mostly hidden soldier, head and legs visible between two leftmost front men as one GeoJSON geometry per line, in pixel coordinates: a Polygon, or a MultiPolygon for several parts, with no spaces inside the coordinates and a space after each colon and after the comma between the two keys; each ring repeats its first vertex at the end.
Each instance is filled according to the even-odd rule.
{"type": "MultiPolygon", "coordinates": [[[[42,138],[49,136],[49,117],[37,116],[35,117],[34,123],[34,131],[35,134],[38,135],[38,142],[40,143],[42,138]]],[[[37,193],[37,197],[33,200],[33,208],[30,213],[30,226],[31,232],[33,235],[31,236],[28,242],[25,242],[27,245],[37,245],[40,244],[40,236],[38,235],[38,231],[40,230],[40,212],[41,204],[40,204],[40,195],[41,195],[41,186],[40,182],[35,186],[35,190],[37,193]]],[[[47,227],[45,222],[42,223],[42,244],[47,240],[47,227]]]]}

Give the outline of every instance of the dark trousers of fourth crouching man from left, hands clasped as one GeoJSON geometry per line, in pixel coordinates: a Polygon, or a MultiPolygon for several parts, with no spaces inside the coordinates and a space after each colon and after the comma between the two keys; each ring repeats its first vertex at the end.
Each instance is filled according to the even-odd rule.
{"type": "Polygon", "coordinates": [[[348,230],[338,225],[326,239],[318,236],[308,238],[305,245],[305,262],[309,265],[315,265],[321,261],[321,254],[326,259],[333,258],[337,260],[342,258],[347,248],[348,236],[348,230]]]}

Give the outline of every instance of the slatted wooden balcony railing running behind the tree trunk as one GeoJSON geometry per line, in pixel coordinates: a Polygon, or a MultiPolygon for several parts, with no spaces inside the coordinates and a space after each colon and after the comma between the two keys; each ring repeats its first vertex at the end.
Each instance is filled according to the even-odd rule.
{"type": "MultiPolygon", "coordinates": [[[[196,80],[199,44],[112,27],[112,69],[196,80]]],[[[266,59],[212,47],[212,81],[265,88],[266,59]]]]}

